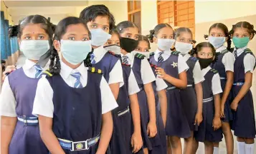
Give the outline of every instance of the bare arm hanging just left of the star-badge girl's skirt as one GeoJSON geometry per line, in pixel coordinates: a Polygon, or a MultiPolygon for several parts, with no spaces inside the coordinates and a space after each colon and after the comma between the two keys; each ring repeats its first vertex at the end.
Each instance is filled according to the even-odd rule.
{"type": "Polygon", "coordinates": [[[167,96],[166,96],[166,91],[163,89],[161,91],[158,91],[158,98],[159,98],[159,103],[160,103],[160,112],[161,112],[161,117],[163,119],[163,125],[164,127],[166,126],[166,118],[167,118],[167,96]]]}

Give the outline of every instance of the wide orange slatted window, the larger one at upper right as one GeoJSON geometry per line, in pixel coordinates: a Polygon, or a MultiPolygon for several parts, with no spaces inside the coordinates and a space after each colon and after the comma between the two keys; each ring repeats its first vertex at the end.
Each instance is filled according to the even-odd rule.
{"type": "Polygon", "coordinates": [[[195,37],[194,1],[157,1],[158,24],[170,24],[174,29],[185,26],[195,37]]]}

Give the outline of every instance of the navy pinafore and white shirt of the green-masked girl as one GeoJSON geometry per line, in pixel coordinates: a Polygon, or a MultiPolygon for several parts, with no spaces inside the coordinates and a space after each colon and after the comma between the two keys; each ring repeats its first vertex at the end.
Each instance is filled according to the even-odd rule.
{"type": "MultiPolygon", "coordinates": [[[[232,98],[234,99],[245,83],[245,73],[255,69],[255,56],[247,46],[234,48],[234,85],[232,98]]],[[[255,112],[253,108],[252,93],[249,90],[238,103],[237,111],[234,112],[232,123],[234,135],[241,138],[255,138],[255,112]]]]}

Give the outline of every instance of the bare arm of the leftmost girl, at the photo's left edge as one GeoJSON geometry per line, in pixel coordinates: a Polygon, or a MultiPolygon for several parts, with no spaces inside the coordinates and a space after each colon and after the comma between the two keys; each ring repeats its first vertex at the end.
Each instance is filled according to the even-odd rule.
{"type": "Polygon", "coordinates": [[[1,116],[1,153],[9,153],[9,144],[16,126],[16,117],[1,116]]]}

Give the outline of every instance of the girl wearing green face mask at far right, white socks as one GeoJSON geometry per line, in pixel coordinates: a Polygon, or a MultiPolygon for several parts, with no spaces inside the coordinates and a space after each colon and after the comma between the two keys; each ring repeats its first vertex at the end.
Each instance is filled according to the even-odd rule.
{"type": "Polygon", "coordinates": [[[254,26],[246,21],[233,25],[229,32],[234,43],[234,83],[232,104],[234,120],[232,129],[237,136],[238,153],[254,153],[255,113],[253,109],[252,72],[255,69],[255,56],[247,48],[248,42],[255,35],[254,26]]]}

